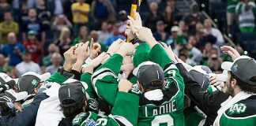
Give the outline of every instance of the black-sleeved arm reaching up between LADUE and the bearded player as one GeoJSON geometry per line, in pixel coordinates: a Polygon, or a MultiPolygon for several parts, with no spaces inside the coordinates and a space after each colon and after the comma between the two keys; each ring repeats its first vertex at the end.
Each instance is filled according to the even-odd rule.
{"type": "Polygon", "coordinates": [[[229,96],[221,91],[214,91],[213,95],[209,95],[207,91],[203,91],[199,83],[194,81],[193,77],[190,76],[190,73],[186,71],[181,63],[176,64],[176,66],[181,76],[183,76],[185,94],[205,113],[210,121],[209,123],[213,124],[217,116],[217,111],[220,109],[220,104],[228,99],[229,96]]]}

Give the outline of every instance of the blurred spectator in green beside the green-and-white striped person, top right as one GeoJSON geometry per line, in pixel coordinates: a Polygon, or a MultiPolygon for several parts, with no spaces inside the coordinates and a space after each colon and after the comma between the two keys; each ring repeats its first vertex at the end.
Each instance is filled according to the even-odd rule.
{"type": "Polygon", "coordinates": [[[236,22],[235,6],[239,0],[228,0],[227,1],[227,32],[231,33],[231,26],[236,22]]]}

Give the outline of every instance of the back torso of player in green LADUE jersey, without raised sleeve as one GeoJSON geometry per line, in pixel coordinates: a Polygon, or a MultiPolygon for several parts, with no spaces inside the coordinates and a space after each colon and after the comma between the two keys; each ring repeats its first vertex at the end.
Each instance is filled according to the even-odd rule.
{"type": "MultiPolygon", "coordinates": [[[[149,93],[149,92],[148,92],[149,93]]],[[[152,91],[152,97],[159,96],[160,90],[152,91]]],[[[177,83],[165,83],[160,101],[149,100],[145,94],[140,96],[138,126],[183,126],[183,91],[177,83]]]]}

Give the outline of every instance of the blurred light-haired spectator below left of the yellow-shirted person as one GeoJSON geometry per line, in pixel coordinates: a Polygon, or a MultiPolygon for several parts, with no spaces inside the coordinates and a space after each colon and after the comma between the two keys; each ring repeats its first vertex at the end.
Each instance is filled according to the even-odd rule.
{"type": "Polygon", "coordinates": [[[58,37],[58,40],[55,42],[59,46],[60,54],[64,54],[66,50],[70,49],[71,39],[70,39],[70,29],[62,28],[61,34],[58,37]]]}

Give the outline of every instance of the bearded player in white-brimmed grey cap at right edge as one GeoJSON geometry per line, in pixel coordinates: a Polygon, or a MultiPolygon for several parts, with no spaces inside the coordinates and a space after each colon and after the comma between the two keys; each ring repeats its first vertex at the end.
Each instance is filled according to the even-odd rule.
{"type": "Polygon", "coordinates": [[[213,125],[255,125],[256,61],[240,56],[233,62],[224,62],[222,69],[228,70],[224,92],[231,97],[221,104],[213,125]]]}

